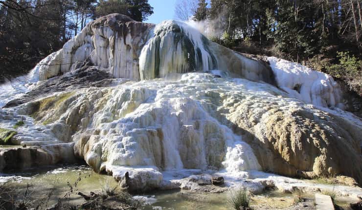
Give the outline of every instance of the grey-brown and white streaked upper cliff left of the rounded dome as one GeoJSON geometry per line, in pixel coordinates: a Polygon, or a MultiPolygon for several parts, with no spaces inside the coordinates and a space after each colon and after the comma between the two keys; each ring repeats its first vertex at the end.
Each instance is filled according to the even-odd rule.
{"type": "Polygon", "coordinates": [[[111,14],[92,21],[61,50],[39,63],[39,80],[73,71],[85,60],[109,69],[115,78],[139,80],[138,56],[152,35],[154,24],[111,14]]]}

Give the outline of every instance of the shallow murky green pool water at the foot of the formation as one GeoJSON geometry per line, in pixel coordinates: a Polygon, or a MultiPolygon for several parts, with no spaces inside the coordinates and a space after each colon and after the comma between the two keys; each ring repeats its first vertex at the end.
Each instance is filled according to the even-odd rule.
{"type": "MultiPolygon", "coordinates": [[[[68,198],[71,204],[84,202],[77,192],[85,194],[100,191],[109,186],[117,187],[112,176],[98,174],[87,166],[68,166],[52,168],[33,168],[11,174],[0,174],[0,185],[14,187],[19,194],[28,188],[34,199],[45,199],[48,206],[57,203],[59,198],[68,198]]],[[[135,195],[135,198],[145,202],[144,210],[230,210],[228,193],[201,193],[186,190],[156,191],[148,194],[135,195]]],[[[252,204],[281,200],[278,207],[292,205],[293,195],[271,192],[252,198],[252,204]]],[[[276,203],[275,203],[276,204],[276,203]]]]}

